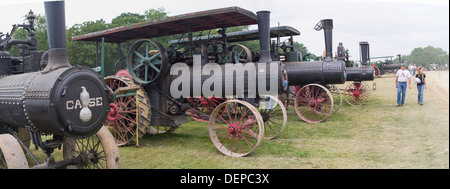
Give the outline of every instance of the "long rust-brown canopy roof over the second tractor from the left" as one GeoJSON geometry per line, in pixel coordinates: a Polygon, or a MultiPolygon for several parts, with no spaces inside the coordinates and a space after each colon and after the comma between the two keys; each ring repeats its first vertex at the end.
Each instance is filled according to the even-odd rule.
{"type": "Polygon", "coordinates": [[[150,39],[161,36],[196,32],[216,28],[257,24],[256,14],[240,7],[227,7],[206,10],[160,20],[120,26],[103,31],[72,37],[73,41],[101,41],[119,43],[137,39],[150,39]]]}

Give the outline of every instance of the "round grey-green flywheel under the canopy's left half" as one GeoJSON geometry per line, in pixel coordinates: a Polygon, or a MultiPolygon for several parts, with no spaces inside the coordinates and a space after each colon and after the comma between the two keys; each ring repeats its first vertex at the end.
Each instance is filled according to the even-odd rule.
{"type": "Polygon", "coordinates": [[[161,43],[151,39],[134,43],[128,51],[126,62],[130,75],[142,84],[163,78],[169,68],[166,49],[161,43]]]}

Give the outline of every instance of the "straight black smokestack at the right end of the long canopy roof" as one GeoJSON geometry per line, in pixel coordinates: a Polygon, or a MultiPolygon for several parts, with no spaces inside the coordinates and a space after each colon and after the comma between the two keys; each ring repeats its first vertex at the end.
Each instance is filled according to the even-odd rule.
{"type": "Polygon", "coordinates": [[[258,17],[259,47],[261,50],[259,62],[272,62],[270,58],[270,11],[256,12],[258,17]]]}

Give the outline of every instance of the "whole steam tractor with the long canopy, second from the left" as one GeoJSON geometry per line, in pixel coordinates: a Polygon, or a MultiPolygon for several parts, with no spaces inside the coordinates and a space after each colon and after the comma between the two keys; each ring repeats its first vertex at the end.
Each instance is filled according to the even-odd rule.
{"type": "MultiPolygon", "coordinates": [[[[258,91],[263,90],[259,88],[259,84],[262,83],[267,86],[265,90],[272,87],[276,93],[283,91],[281,72],[284,70],[284,64],[270,58],[269,15],[268,11],[260,11],[255,15],[239,7],[229,7],[74,37],[74,41],[110,43],[145,39],[136,41],[129,49],[125,58],[127,71],[121,70],[116,76],[105,78],[105,82],[116,94],[135,85],[141,87],[138,91],[142,91],[143,94],[112,100],[106,125],[113,130],[117,143],[129,144],[131,138],[138,138],[144,133],[172,132],[188,121],[186,112],[189,109],[195,111],[197,116],[209,117],[208,128],[213,144],[220,152],[229,156],[248,155],[264,138],[278,135],[287,122],[286,110],[276,96],[258,94],[258,91]],[[220,28],[219,34],[225,35],[225,29],[228,27],[252,24],[258,24],[260,30],[258,35],[262,51],[257,63],[251,62],[252,58],[248,53],[245,56],[242,54],[242,50],[245,51],[247,48],[243,45],[229,45],[226,37],[223,40],[211,39],[196,43],[192,34],[220,28]],[[179,37],[181,40],[186,33],[188,43],[181,47],[172,45],[165,48],[159,42],[149,39],[181,34],[179,37]],[[197,63],[200,69],[194,70],[197,63]],[[189,73],[169,72],[169,68],[174,65],[184,65],[189,73]],[[258,72],[226,70],[236,65],[254,67],[258,72]],[[200,70],[211,69],[208,66],[215,66],[216,71],[220,70],[220,73],[202,74],[200,70]],[[184,75],[187,76],[188,82],[174,85],[173,83],[179,81],[183,74],[188,74],[184,75]],[[212,82],[214,80],[218,82],[212,82]],[[206,86],[211,91],[214,88],[216,90],[221,88],[221,94],[205,94],[203,90],[194,94],[193,91],[199,85],[203,86],[203,89],[206,86]],[[189,89],[190,94],[174,97],[170,93],[171,87],[178,90],[189,89]],[[231,91],[228,91],[230,88],[231,91]],[[205,114],[194,107],[196,100],[201,98],[227,98],[227,100],[217,105],[210,114],[205,114]],[[144,107],[145,110],[141,111],[139,107],[144,107]]],[[[192,116],[192,113],[190,115],[192,116]]]]}

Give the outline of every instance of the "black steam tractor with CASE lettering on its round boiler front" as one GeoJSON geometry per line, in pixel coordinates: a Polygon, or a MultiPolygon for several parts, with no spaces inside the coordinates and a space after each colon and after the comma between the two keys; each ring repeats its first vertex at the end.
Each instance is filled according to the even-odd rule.
{"type": "Polygon", "coordinates": [[[29,168],[22,149],[36,162],[33,168],[117,168],[118,148],[102,127],[109,90],[91,68],[70,65],[64,1],[45,2],[45,14],[47,55],[35,49],[32,12],[28,25],[13,26],[0,40],[0,168],[29,168]],[[18,27],[28,39],[11,39],[18,27]],[[12,45],[21,45],[22,58],[4,51],[12,45]],[[41,56],[47,64],[41,65],[41,56]],[[30,138],[47,155],[45,162],[28,149],[30,138]],[[55,161],[51,154],[61,147],[64,160],[55,161]]]}

